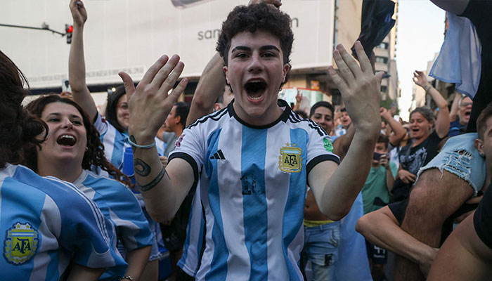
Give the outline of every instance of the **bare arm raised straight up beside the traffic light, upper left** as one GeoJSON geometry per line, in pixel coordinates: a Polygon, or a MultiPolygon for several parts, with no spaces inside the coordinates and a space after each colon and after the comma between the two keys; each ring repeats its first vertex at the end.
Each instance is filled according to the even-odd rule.
{"type": "Polygon", "coordinates": [[[96,103],[86,85],[86,65],[84,60],[84,25],[87,20],[87,11],[84,3],[79,0],[70,0],[70,12],[73,18],[72,44],[68,57],[68,81],[72,88],[72,95],[89,117],[96,116],[96,103]]]}

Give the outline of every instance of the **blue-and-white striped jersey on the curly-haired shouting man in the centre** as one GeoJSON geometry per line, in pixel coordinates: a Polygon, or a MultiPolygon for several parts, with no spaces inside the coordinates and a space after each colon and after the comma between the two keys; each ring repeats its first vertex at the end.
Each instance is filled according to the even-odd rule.
{"type": "Polygon", "coordinates": [[[243,122],[233,109],[198,119],[169,157],[200,174],[206,247],[197,280],[303,280],[299,256],[306,179],[319,162],[339,158],[330,137],[279,100],[283,114],[267,126],[243,122]]]}

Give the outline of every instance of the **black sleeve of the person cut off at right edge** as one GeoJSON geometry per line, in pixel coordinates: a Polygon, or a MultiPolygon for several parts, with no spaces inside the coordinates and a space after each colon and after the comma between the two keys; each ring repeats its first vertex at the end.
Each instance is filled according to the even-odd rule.
{"type": "Polygon", "coordinates": [[[484,198],[473,216],[473,226],[480,240],[492,249],[492,188],[488,186],[484,198]]]}

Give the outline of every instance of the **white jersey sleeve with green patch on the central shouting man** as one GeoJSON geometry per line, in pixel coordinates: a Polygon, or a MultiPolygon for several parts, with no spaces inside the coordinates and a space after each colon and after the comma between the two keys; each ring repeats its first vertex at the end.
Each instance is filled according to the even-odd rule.
{"type": "Polygon", "coordinates": [[[316,164],[323,161],[333,161],[340,164],[340,159],[333,153],[333,142],[321,128],[309,123],[309,142],[307,145],[307,174],[316,164]]]}

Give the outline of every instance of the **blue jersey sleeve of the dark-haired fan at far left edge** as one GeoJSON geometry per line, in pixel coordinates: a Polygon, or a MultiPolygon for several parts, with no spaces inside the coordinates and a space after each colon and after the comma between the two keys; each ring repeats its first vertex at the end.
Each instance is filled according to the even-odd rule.
{"type": "MultiPolygon", "coordinates": [[[[95,202],[66,183],[66,200],[60,206],[60,246],[72,253],[71,260],[89,268],[126,270],[127,263],[115,247],[116,234],[95,202]],[[69,198],[71,200],[69,200],[69,198]]],[[[60,203],[59,203],[60,204],[60,203]]]]}

